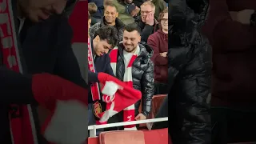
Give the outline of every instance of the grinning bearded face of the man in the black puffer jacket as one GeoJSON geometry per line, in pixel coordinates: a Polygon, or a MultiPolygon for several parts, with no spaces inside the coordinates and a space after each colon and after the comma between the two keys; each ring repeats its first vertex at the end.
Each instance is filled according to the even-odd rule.
{"type": "Polygon", "coordinates": [[[141,36],[137,30],[134,30],[132,32],[128,32],[125,30],[123,32],[122,44],[125,47],[124,50],[129,53],[134,52],[138,46],[138,42],[141,42],[141,36]]]}

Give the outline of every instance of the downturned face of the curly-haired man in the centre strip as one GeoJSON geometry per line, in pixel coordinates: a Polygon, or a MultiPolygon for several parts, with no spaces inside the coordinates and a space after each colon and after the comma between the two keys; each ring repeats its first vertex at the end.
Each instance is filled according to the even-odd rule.
{"type": "Polygon", "coordinates": [[[111,46],[106,40],[100,39],[99,36],[94,38],[94,53],[97,56],[107,54],[111,49],[113,49],[113,46],[111,46]]]}

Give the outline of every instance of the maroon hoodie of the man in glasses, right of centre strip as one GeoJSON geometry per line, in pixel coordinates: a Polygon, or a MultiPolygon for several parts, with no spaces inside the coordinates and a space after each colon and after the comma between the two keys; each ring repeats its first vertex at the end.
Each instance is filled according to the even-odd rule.
{"type": "Polygon", "coordinates": [[[168,82],[168,58],[160,55],[160,53],[168,52],[168,34],[158,30],[150,35],[147,43],[154,50],[151,57],[154,62],[154,80],[162,83],[168,82]]]}

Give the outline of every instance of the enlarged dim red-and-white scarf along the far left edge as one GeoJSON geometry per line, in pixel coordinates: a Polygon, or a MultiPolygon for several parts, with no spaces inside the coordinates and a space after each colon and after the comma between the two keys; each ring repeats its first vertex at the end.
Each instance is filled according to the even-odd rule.
{"type": "MultiPolygon", "coordinates": [[[[0,50],[3,64],[10,70],[23,73],[19,43],[14,23],[14,11],[10,0],[0,0],[0,50]]],[[[16,6],[16,5],[15,5],[16,6]]],[[[37,130],[30,105],[11,105],[10,134],[13,144],[38,144],[37,130]],[[18,117],[15,117],[18,116],[18,117]]]]}

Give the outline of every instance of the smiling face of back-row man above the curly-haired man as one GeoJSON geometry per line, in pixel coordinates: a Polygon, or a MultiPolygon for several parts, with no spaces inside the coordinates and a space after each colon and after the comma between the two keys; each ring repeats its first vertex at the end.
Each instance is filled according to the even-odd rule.
{"type": "Polygon", "coordinates": [[[118,11],[114,6],[106,6],[104,16],[106,24],[111,25],[115,22],[115,19],[118,18],[118,11]]]}

